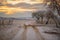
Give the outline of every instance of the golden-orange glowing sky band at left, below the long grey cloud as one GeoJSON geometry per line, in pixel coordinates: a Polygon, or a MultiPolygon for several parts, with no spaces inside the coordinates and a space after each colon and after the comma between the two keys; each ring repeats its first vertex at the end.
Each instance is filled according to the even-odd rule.
{"type": "Polygon", "coordinates": [[[14,14],[14,12],[24,12],[24,11],[34,11],[35,9],[23,9],[23,8],[14,8],[2,6],[0,7],[0,12],[6,12],[6,14],[14,14]]]}

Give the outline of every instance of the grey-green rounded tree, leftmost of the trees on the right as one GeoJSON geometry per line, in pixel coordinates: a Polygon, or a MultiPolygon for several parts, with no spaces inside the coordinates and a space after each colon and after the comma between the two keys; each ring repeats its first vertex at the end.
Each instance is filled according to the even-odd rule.
{"type": "Polygon", "coordinates": [[[40,18],[41,18],[41,23],[43,23],[43,17],[44,17],[43,11],[33,12],[32,17],[36,18],[37,23],[40,23],[40,18]]]}

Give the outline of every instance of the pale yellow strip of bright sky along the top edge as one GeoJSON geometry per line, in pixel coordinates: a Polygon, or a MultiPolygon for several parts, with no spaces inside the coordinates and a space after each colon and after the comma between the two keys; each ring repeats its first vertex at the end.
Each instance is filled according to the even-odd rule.
{"type": "Polygon", "coordinates": [[[43,3],[44,0],[15,0],[15,1],[7,1],[7,3],[10,3],[10,4],[17,4],[17,3],[21,3],[21,2],[25,2],[25,3],[29,3],[29,4],[36,4],[36,3],[43,3]]]}

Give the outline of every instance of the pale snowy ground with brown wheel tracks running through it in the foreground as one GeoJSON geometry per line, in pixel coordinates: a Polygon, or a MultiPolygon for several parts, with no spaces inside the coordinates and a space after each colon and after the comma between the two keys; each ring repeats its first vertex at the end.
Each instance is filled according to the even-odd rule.
{"type": "Polygon", "coordinates": [[[14,20],[13,25],[0,26],[0,40],[60,40],[58,34],[45,31],[57,29],[55,25],[24,28],[24,24],[35,24],[34,20],[14,20]]]}

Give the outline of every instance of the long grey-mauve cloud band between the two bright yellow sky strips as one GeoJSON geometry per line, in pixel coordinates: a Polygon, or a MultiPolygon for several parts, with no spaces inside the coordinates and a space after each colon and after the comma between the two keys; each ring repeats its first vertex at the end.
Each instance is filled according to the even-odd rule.
{"type": "MultiPolygon", "coordinates": [[[[0,3],[1,6],[3,6],[3,4],[0,3]]],[[[25,3],[25,2],[21,2],[21,3],[17,3],[15,5],[13,4],[5,4],[5,6],[8,7],[20,7],[20,8],[24,8],[24,9],[41,9],[41,8],[45,8],[46,4],[43,3],[36,3],[36,4],[29,4],[29,3],[25,3]]]]}

